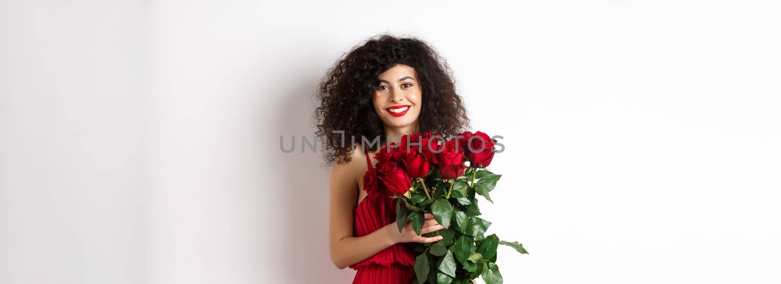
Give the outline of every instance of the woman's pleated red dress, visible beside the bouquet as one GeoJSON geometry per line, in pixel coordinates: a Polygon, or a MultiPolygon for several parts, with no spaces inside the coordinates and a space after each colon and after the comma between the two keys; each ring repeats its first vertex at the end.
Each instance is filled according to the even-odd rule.
{"type": "MultiPolygon", "coordinates": [[[[363,176],[366,197],[355,208],[355,236],[366,236],[396,222],[396,199],[376,181],[376,170],[366,153],[369,170],[363,176]]],[[[414,243],[396,243],[349,267],[357,270],[353,284],[409,284],[415,279],[414,243]]]]}

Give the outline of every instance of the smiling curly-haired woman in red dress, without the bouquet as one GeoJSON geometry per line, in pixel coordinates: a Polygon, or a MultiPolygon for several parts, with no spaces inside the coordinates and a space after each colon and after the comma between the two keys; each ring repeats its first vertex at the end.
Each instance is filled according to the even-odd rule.
{"type": "MultiPolygon", "coordinates": [[[[408,284],[415,279],[415,243],[441,237],[418,236],[412,222],[399,233],[395,200],[369,169],[376,150],[402,135],[433,131],[447,137],[469,127],[451,71],[425,42],[381,35],[343,55],[317,96],[317,135],[326,142],[326,162],[333,167],[331,261],[339,269],[357,270],[353,283],[408,284]],[[379,146],[372,144],[378,137],[379,146]]],[[[440,229],[426,214],[421,235],[440,229]]]]}

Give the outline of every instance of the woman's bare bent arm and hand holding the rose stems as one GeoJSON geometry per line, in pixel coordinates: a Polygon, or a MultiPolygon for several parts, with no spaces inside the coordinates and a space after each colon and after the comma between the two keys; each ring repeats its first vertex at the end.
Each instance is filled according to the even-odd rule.
{"type": "MultiPolygon", "coordinates": [[[[357,172],[366,170],[357,165],[357,162],[361,161],[358,158],[362,158],[363,154],[360,154],[359,151],[355,151],[355,153],[351,162],[342,165],[334,162],[331,167],[329,250],[333,264],[339,269],[344,269],[391,247],[395,243],[413,241],[431,243],[440,240],[441,236],[417,236],[412,230],[412,222],[407,222],[401,233],[398,232],[396,223],[391,223],[366,236],[354,236],[353,222],[355,207],[358,205],[358,182],[355,177],[357,172]]],[[[421,235],[439,229],[444,229],[444,227],[437,223],[433,215],[426,214],[421,235]]]]}

